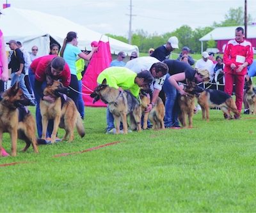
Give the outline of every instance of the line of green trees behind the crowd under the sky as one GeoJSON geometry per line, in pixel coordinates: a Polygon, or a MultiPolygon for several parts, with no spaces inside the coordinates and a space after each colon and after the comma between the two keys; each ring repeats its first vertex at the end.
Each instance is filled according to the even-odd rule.
{"type": "MultiPolygon", "coordinates": [[[[252,23],[252,16],[248,15],[248,24],[252,23]]],[[[148,52],[148,49],[153,47],[159,47],[168,41],[171,36],[177,36],[179,38],[179,47],[188,46],[191,52],[200,53],[201,43],[199,41],[202,36],[211,32],[216,27],[227,27],[227,26],[243,26],[244,25],[244,11],[242,7],[230,8],[228,13],[225,15],[225,20],[220,23],[213,22],[212,26],[209,27],[198,27],[193,30],[191,27],[184,25],[175,29],[175,31],[164,33],[164,34],[148,34],[143,29],[138,29],[132,33],[132,45],[138,46],[140,52],[148,52]]],[[[124,41],[128,43],[128,39],[124,36],[116,36],[113,34],[107,34],[111,38],[116,40],[124,41]]],[[[210,40],[205,44],[206,48],[216,47],[216,41],[210,40]]],[[[180,50],[176,50],[180,52],[180,50]]]]}

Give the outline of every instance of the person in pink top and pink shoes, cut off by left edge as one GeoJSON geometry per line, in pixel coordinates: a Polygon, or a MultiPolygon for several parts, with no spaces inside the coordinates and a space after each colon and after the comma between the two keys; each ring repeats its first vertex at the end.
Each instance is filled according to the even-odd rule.
{"type": "MultiPolygon", "coordinates": [[[[1,15],[0,11],[0,15],[1,15]]],[[[0,92],[4,91],[4,82],[8,80],[8,59],[6,56],[6,50],[5,50],[5,45],[4,45],[4,38],[3,38],[3,33],[0,29],[0,92]]],[[[5,151],[5,149],[0,147],[0,156],[6,157],[9,156],[9,154],[5,151]]]]}

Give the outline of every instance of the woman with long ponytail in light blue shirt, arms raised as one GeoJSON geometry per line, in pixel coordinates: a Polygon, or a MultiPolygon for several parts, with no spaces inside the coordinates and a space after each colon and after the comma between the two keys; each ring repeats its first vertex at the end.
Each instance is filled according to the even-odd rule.
{"type": "Polygon", "coordinates": [[[75,102],[78,110],[79,84],[77,80],[76,60],[77,57],[80,57],[89,61],[93,53],[98,50],[98,47],[92,47],[92,51],[86,55],[77,47],[77,43],[77,33],[73,31],[68,32],[63,42],[63,46],[61,47],[60,56],[65,59],[70,68],[71,81],[69,86],[70,93],[68,96],[75,102]]]}

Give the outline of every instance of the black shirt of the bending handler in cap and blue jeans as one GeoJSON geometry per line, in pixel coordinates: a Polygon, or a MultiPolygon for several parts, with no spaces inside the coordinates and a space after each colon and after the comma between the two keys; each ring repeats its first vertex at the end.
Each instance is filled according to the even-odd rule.
{"type": "MultiPolygon", "coordinates": [[[[163,61],[169,68],[169,74],[185,73],[186,79],[194,80],[196,71],[186,62],[166,59],[163,61]]],[[[182,83],[186,83],[184,80],[182,83]]]]}

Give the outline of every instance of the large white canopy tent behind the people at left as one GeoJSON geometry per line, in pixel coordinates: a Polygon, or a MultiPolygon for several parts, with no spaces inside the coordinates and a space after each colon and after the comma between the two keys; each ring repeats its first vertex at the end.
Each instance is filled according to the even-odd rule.
{"type": "Polygon", "coordinates": [[[31,51],[31,47],[36,45],[38,55],[49,54],[51,40],[62,45],[68,31],[77,33],[78,47],[81,50],[84,47],[91,50],[91,42],[101,40],[109,41],[111,54],[124,51],[125,54],[131,55],[133,51],[139,52],[137,46],[109,38],[63,17],[18,8],[6,8],[2,11],[4,15],[1,15],[0,26],[4,40],[20,41],[27,51],[31,51]]]}

